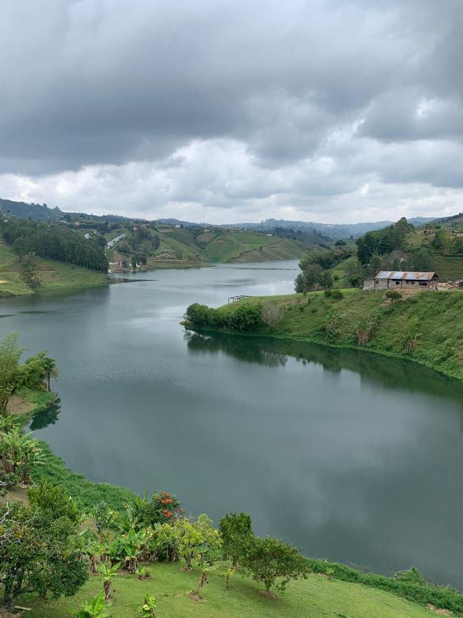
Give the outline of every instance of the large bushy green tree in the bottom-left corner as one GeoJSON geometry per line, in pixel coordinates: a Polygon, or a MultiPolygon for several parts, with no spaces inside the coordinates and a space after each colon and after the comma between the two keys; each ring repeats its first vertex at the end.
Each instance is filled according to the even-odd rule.
{"type": "Polygon", "coordinates": [[[88,577],[75,523],[38,505],[14,503],[0,513],[0,582],[12,608],[23,590],[54,598],[74,595],[88,577]]]}

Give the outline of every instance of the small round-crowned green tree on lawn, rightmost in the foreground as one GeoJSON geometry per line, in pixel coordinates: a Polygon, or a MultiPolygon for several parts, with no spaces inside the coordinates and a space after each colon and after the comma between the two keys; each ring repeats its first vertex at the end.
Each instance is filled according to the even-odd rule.
{"type": "Polygon", "coordinates": [[[243,566],[252,579],[265,587],[265,596],[274,597],[270,588],[284,593],[290,580],[307,577],[309,564],[296,547],[277,538],[254,537],[248,547],[243,566]]]}

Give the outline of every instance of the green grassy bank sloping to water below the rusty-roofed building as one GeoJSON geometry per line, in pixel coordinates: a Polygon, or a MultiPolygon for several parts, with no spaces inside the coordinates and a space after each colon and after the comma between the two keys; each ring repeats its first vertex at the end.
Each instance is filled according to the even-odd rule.
{"type": "MultiPolygon", "coordinates": [[[[342,290],[341,297],[323,292],[303,296],[252,297],[224,306],[211,314],[209,323],[191,324],[198,330],[242,332],[217,326],[230,318],[240,306],[274,304],[281,319],[274,328],[259,321],[246,334],[273,336],[294,341],[309,341],[369,350],[407,358],[452,378],[463,381],[463,293],[422,292],[402,297],[394,304],[382,292],[342,290]],[[332,318],[333,328],[327,328],[332,318]],[[372,325],[370,341],[359,345],[357,331],[364,321],[372,325]],[[409,344],[412,341],[412,345],[409,344]]],[[[214,312],[214,310],[212,310],[214,312]]],[[[208,320],[206,319],[206,322],[208,320]]]]}

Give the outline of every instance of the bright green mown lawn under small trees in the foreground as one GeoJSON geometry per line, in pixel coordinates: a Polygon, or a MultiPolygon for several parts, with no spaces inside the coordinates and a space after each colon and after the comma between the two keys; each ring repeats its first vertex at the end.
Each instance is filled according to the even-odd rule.
{"type": "MultiPolygon", "coordinates": [[[[179,564],[152,564],[152,579],[141,582],[136,575],[116,575],[110,612],[115,618],[134,618],[145,593],[156,597],[156,618],[244,618],[269,616],[281,618],[425,618],[429,610],[390,593],[361,584],[329,581],[324,575],[309,575],[307,580],[292,582],[277,600],[259,595],[261,587],[236,574],[226,591],[223,569],[209,573],[209,584],[202,588],[204,602],[195,602],[187,591],[195,588],[199,569],[180,570],[179,564]]],[[[78,595],[70,599],[43,602],[34,606],[30,599],[21,603],[32,607],[31,618],[62,618],[82,601],[102,590],[102,577],[92,575],[78,595]]]]}

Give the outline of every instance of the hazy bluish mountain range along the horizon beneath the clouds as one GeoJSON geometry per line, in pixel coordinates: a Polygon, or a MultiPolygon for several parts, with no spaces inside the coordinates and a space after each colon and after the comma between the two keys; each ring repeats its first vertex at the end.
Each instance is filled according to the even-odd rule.
{"type": "MultiPolygon", "coordinates": [[[[86,215],[85,213],[64,212],[60,210],[58,206],[54,208],[49,208],[46,204],[27,204],[25,202],[15,202],[3,199],[0,199],[0,211],[4,214],[10,214],[15,217],[24,219],[31,218],[37,221],[57,221],[64,217],[67,218],[69,216],[71,216],[72,218],[76,218],[79,216],[90,216],[86,215]]],[[[94,218],[97,220],[107,219],[109,221],[141,221],[141,219],[131,219],[130,217],[111,214],[104,216],[94,216],[94,218]]],[[[435,219],[433,217],[414,217],[409,219],[409,222],[413,223],[413,225],[423,225],[424,223],[432,220],[435,219]]],[[[440,219],[440,221],[443,220],[444,219],[440,219]]],[[[375,221],[364,223],[318,223],[314,221],[265,219],[260,223],[235,223],[225,225],[213,225],[210,223],[195,223],[192,221],[182,221],[176,218],[164,218],[158,219],[158,221],[161,223],[166,223],[168,225],[182,225],[183,227],[221,227],[225,229],[239,228],[251,229],[254,231],[265,231],[278,227],[283,229],[293,229],[294,231],[316,230],[317,233],[322,233],[324,236],[332,238],[333,240],[337,238],[350,238],[351,236],[353,236],[353,238],[359,238],[359,236],[363,236],[364,233],[366,233],[367,231],[381,229],[382,227],[386,227],[393,223],[393,221],[375,221]]]]}

